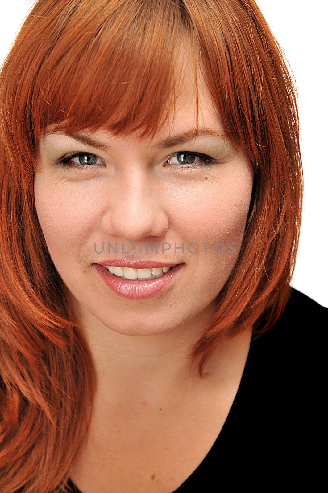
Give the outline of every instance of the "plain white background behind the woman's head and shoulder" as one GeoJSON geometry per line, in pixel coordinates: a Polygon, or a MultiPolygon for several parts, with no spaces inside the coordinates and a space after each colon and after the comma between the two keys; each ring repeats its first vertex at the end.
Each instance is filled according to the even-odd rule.
{"type": "MultiPolygon", "coordinates": [[[[0,63],[34,3],[1,0],[0,63]]],[[[327,2],[260,0],[257,4],[286,54],[298,92],[304,205],[291,285],[328,307],[327,2]]]]}

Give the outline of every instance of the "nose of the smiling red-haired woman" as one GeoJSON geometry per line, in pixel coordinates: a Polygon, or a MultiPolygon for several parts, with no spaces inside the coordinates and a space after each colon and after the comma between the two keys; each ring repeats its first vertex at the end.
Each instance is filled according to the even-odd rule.
{"type": "MultiPolygon", "coordinates": [[[[136,242],[150,236],[163,237],[168,229],[168,217],[160,187],[152,182],[147,170],[130,171],[124,176],[118,178],[115,190],[108,194],[108,207],[101,221],[103,232],[136,242]]],[[[132,248],[132,243],[127,246],[132,248]]]]}

